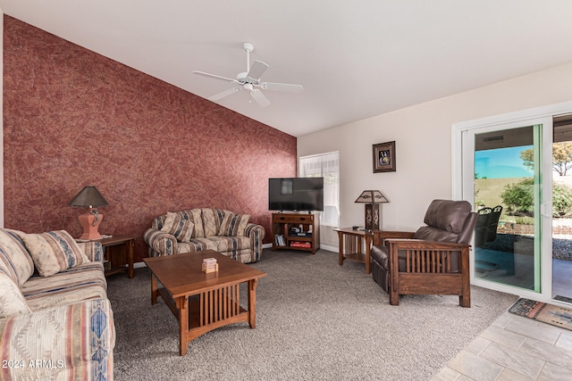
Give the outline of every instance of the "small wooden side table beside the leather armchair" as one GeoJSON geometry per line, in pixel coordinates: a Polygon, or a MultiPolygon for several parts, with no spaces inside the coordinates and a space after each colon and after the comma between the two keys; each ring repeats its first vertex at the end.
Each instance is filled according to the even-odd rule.
{"type": "Polygon", "coordinates": [[[374,240],[377,230],[354,230],[353,228],[334,228],[338,232],[340,241],[340,266],[343,266],[344,260],[358,261],[366,263],[366,274],[371,273],[371,257],[369,248],[374,240]],[[365,252],[362,253],[362,241],[365,244],[365,252]]]}

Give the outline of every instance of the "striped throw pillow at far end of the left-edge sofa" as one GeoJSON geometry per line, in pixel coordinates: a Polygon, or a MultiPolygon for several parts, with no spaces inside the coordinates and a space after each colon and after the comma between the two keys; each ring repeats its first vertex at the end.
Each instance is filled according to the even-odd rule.
{"type": "Polygon", "coordinates": [[[21,239],[26,244],[39,275],[42,277],[89,261],[80,246],[65,230],[26,234],[21,239]]]}

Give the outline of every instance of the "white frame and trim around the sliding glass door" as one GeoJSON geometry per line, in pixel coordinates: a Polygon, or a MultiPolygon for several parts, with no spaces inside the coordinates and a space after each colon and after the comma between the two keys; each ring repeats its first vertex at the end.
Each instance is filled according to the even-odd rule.
{"type": "Polygon", "coordinates": [[[560,114],[572,112],[572,102],[552,104],[521,112],[510,112],[479,120],[468,120],[454,123],[451,126],[451,194],[453,199],[467,199],[474,204],[475,177],[475,133],[493,130],[518,128],[524,126],[543,125],[542,145],[542,172],[543,183],[541,192],[542,236],[546,239],[541,243],[540,264],[540,292],[529,291],[523,288],[488,282],[475,277],[475,252],[470,253],[471,284],[482,286],[509,294],[518,294],[543,302],[553,302],[552,292],[552,247],[551,247],[551,197],[552,197],[552,118],[560,114]],[[467,138],[468,137],[468,138],[467,138]],[[472,138],[471,138],[472,137],[472,138]]]}

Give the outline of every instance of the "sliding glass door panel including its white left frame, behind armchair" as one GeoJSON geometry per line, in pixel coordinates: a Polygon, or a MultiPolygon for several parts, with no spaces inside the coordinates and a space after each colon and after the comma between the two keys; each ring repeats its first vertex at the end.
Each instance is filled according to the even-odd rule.
{"type": "Polygon", "coordinates": [[[462,132],[462,198],[478,213],[474,284],[543,292],[543,252],[551,246],[550,144],[550,119],[462,132]]]}

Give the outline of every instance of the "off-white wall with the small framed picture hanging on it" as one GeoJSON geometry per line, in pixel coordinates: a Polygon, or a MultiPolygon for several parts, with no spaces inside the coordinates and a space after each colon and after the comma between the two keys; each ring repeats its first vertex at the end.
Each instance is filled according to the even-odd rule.
{"type": "Polygon", "coordinates": [[[340,151],[341,227],[364,225],[364,189],[379,189],[384,229],[416,229],[451,197],[451,124],[572,101],[572,62],[298,138],[298,154],[340,151]],[[372,145],[396,141],[396,172],[373,173],[372,145]]]}

